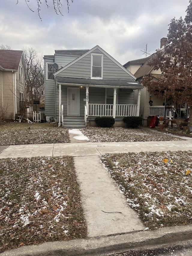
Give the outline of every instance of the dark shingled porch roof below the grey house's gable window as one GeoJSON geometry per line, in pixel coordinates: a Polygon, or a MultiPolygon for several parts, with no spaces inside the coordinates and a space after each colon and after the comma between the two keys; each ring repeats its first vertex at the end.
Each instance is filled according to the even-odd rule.
{"type": "Polygon", "coordinates": [[[70,77],[56,77],[57,83],[71,84],[71,85],[89,85],[89,86],[117,86],[127,87],[130,89],[143,88],[137,82],[128,82],[127,80],[104,80],[104,79],[85,79],[85,78],[70,78],[70,77]]]}

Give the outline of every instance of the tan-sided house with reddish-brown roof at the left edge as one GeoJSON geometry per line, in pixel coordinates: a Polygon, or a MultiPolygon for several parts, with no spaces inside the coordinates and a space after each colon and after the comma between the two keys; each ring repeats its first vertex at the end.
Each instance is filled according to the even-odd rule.
{"type": "Polygon", "coordinates": [[[24,100],[22,51],[0,50],[0,119],[17,119],[24,100]]]}

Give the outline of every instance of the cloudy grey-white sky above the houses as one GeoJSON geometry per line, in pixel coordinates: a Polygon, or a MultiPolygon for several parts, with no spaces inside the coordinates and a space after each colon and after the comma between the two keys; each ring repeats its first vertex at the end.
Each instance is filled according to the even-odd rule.
{"type": "MultiPolygon", "coordinates": [[[[160,39],[167,36],[173,17],[185,17],[188,0],[73,0],[69,13],[65,0],[57,15],[52,0],[41,0],[41,18],[37,0],[0,0],[0,44],[13,50],[32,46],[39,55],[54,50],[91,49],[99,45],[122,65],[154,53],[160,39]]],[[[69,0],[71,1],[71,0],[69,0]]]]}

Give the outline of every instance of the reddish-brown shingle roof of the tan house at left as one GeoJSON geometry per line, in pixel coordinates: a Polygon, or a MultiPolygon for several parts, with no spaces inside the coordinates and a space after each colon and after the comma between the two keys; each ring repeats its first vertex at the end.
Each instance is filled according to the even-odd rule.
{"type": "Polygon", "coordinates": [[[0,66],[4,69],[18,70],[23,51],[0,50],[0,66]]]}

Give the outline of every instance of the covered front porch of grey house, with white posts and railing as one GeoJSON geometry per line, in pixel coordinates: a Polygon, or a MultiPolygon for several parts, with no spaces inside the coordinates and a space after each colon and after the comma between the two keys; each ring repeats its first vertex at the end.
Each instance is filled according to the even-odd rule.
{"type": "Polygon", "coordinates": [[[74,119],[84,117],[85,125],[98,116],[113,117],[121,122],[125,116],[139,116],[140,94],[141,86],[137,83],[123,87],[74,83],[70,86],[70,84],[58,83],[59,126],[65,125],[63,117],[66,116],[74,119]]]}

